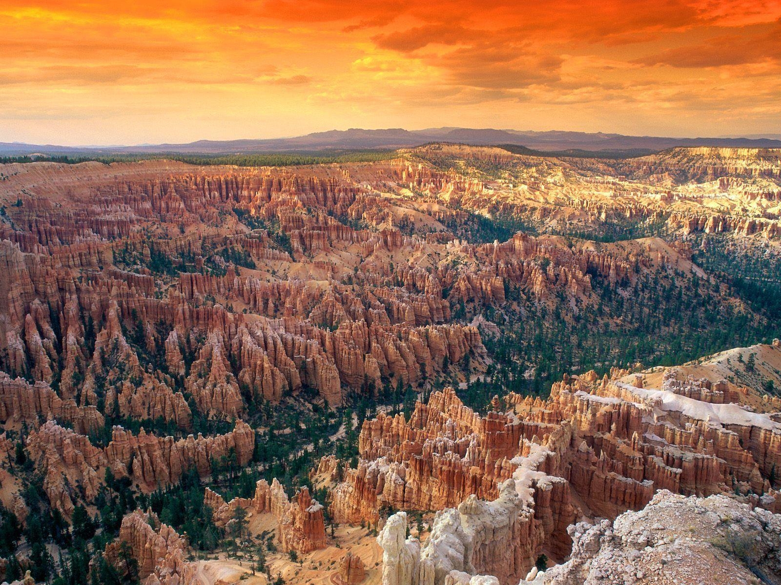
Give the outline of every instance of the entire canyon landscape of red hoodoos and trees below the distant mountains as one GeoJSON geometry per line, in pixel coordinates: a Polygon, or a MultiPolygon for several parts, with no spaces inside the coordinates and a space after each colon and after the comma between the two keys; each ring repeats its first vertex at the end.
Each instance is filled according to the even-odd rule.
{"type": "Polygon", "coordinates": [[[5,580],[781,583],[781,151],[376,158],[0,165],[5,580]]]}

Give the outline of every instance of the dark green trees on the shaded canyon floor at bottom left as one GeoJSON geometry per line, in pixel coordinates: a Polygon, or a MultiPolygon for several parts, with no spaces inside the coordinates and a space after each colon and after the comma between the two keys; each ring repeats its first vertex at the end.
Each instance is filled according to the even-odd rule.
{"type": "MultiPolygon", "coordinates": [[[[255,413],[259,420],[273,420],[274,431],[258,441],[255,461],[241,469],[235,452],[223,459],[212,461],[209,485],[226,495],[249,498],[255,493],[255,482],[261,477],[271,479],[280,473],[280,480],[292,495],[294,488],[305,484],[309,466],[314,457],[325,454],[332,445],[323,440],[347,417],[320,408],[316,412],[296,411],[265,406],[255,413]],[[279,409],[279,410],[277,410],[279,409]],[[296,422],[298,421],[298,422],[296,422]],[[298,424],[298,432],[283,434],[287,425],[298,424]],[[307,449],[309,448],[309,449],[307,449]]],[[[351,420],[351,417],[347,417],[351,420]]],[[[351,430],[352,432],[352,430],[351,430]]],[[[357,443],[357,437],[355,437],[357,443]]],[[[21,445],[21,443],[20,443],[21,445]]],[[[243,510],[237,512],[231,530],[226,532],[216,526],[212,510],[204,505],[205,483],[195,469],[187,470],[180,481],[166,488],[159,488],[150,495],[137,491],[127,477],[115,477],[110,469],[105,471],[104,482],[94,502],[97,513],[91,517],[84,505],[77,505],[69,523],[48,503],[40,473],[30,465],[23,446],[12,462],[27,487],[23,491],[25,505],[29,509],[26,527],[16,516],[0,505],[0,556],[5,558],[5,580],[14,580],[30,568],[37,582],[48,580],[55,585],[130,585],[138,582],[137,563],[127,545],[119,549],[119,566],[112,566],[102,558],[106,544],[119,534],[123,517],[134,509],[152,509],[163,523],[169,524],[180,534],[187,533],[191,546],[197,551],[213,551],[233,546],[230,542],[248,538],[248,522],[243,510]],[[228,538],[229,541],[225,539],[228,538]],[[232,539],[232,540],[230,540],[232,539]],[[24,541],[30,545],[28,560],[20,562],[16,551],[24,541]],[[61,551],[52,558],[48,548],[52,545],[61,551]]],[[[266,551],[275,551],[273,543],[265,540],[252,544],[248,556],[251,566],[259,572],[267,572],[266,551]]],[[[269,580],[271,578],[269,574],[269,580]]],[[[278,580],[280,585],[282,581],[278,580]]]]}

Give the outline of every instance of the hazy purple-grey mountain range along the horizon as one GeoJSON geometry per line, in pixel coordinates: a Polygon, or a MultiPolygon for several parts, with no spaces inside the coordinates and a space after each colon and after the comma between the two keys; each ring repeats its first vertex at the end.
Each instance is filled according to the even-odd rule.
{"type": "Polygon", "coordinates": [[[512,144],[538,151],[662,151],[677,146],[779,148],[781,136],[669,138],[552,130],[500,130],[471,128],[402,128],[329,130],[301,137],[262,140],[197,140],[187,144],[140,144],[127,147],[63,147],[54,144],[0,143],[0,155],[21,154],[253,154],[329,149],[378,149],[415,147],[430,142],[497,145],[512,144]]]}

